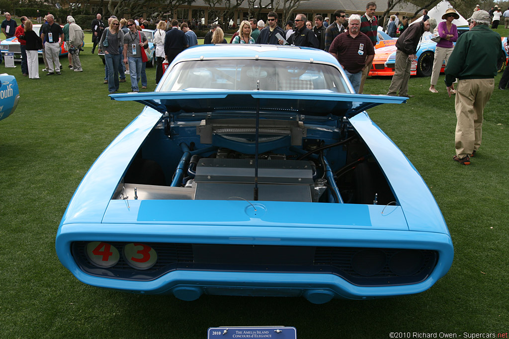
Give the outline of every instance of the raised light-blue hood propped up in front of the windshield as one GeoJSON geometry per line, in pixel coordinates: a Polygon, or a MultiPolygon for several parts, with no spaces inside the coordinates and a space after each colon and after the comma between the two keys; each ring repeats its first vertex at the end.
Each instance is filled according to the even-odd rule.
{"type": "Polygon", "coordinates": [[[292,91],[232,91],[202,88],[175,92],[147,92],[112,94],[112,100],[136,101],[161,113],[218,112],[239,110],[280,111],[289,114],[305,114],[352,117],[366,109],[381,104],[401,104],[408,98],[373,96],[363,94],[335,93],[330,90],[292,91]]]}

